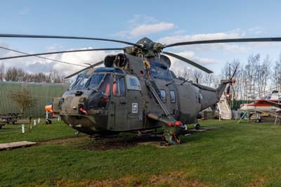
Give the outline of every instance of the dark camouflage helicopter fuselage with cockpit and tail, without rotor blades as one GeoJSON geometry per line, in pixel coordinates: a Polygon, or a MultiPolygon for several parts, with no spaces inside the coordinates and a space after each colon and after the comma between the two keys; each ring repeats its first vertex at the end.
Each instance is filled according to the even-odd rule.
{"type": "Polygon", "coordinates": [[[169,125],[173,117],[182,124],[196,123],[199,112],[214,107],[228,83],[222,82],[218,89],[183,83],[162,58],[149,60],[123,53],[118,56],[105,58],[105,65],[110,67],[81,72],[63,97],[54,100],[53,110],[77,131],[113,134],[155,129],[169,125]],[[118,56],[126,58],[126,63],[116,63],[118,56]],[[166,114],[162,107],[171,118],[163,118],[166,114]]]}

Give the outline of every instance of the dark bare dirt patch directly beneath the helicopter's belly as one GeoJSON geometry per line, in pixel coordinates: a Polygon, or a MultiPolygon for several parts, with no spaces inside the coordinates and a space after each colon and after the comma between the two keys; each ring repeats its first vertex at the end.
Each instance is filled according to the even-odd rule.
{"type": "Polygon", "coordinates": [[[137,145],[159,146],[161,141],[161,136],[112,136],[110,138],[92,140],[79,148],[86,150],[122,150],[125,148],[132,148],[137,145]]]}

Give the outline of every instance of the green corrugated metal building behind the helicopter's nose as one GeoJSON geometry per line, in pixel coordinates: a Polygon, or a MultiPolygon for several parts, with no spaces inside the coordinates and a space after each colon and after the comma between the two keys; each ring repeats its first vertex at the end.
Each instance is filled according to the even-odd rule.
{"type": "Polygon", "coordinates": [[[67,90],[67,84],[30,83],[30,82],[0,82],[0,114],[20,112],[11,99],[11,93],[26,89],[35,99],[32,108],[25,110],[24,117],[44,117],[45,105],[60,97],[67,90]]]}

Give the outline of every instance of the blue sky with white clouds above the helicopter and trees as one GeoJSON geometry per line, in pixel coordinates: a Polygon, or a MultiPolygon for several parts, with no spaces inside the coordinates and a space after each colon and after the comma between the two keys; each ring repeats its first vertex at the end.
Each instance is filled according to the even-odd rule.
{"type": "MultiPolygon", "coordinates": [[[[0,0],[1,34],[46,34],[119,39],[135,43],[149,37],[162,44],[205,39],[281,37],[281,1],[4,1],[0,0]]],[[[108,41],[66,39],[7,39],[0,46],[26,53],[124,47],[108,41]]],[[[221,72],[226,62],[250,55],[279,58],[281,42],[247,44],[204,44],[166,49],[221,72]]],[[[97,51],[44,56],[68,63],[96,63],[110,53],[97,51]]],[[[0,57],[18,53],[0,49],[0,57]]],[[[175,71],[190,67],[171,58],[175,71]]],[[[41,58],[0,60],[6,67],[22,67],[27,72],[60,70],[64,75],[82,67],[41,58]]]]}

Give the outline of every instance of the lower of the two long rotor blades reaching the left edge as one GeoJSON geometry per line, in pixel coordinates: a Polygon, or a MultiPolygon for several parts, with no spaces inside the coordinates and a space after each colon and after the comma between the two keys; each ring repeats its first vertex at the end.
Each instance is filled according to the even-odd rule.
{"type": "Polygon", "coordinates": [[[55,51],[55,52],[48,52],[48,53],[35,53],[35,54],[24,55],[24,56],[10,56],[10,57],[0,58],[0,60],[6,60],[11,58],[22,58],[28,56],[44,56],[44,55],[51,55],[51,54],[58,54],[58,53],[75,53],[75,52],[84,52],[84,51],[112,51],[112,50],[123,50],[123,48],[77,49],[77,50],[70,50],[70,51],[55,51]]]}

